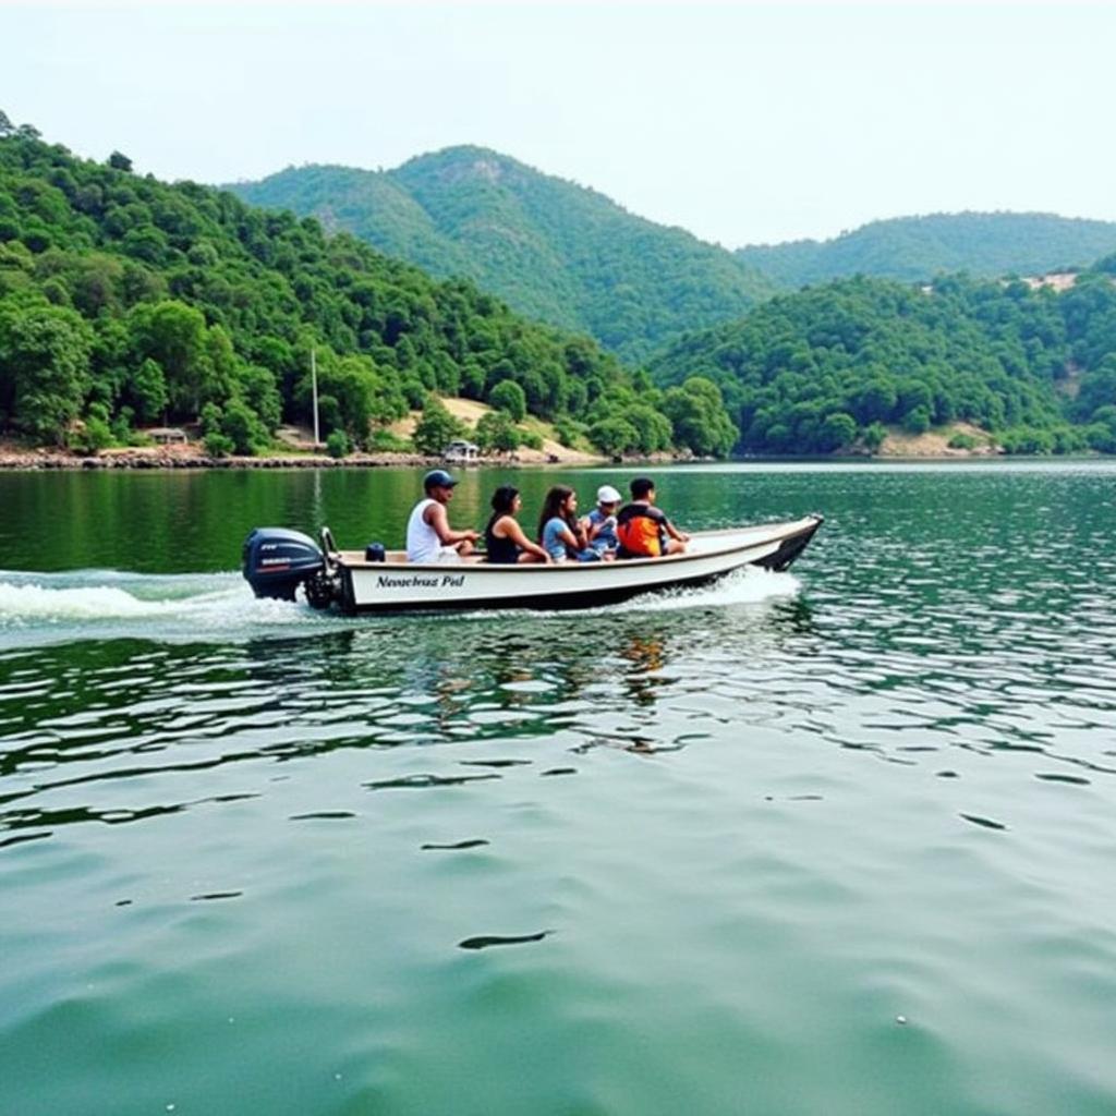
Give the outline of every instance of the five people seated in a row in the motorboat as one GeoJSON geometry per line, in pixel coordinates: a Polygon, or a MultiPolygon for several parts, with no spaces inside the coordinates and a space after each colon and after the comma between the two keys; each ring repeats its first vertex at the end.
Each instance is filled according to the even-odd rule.
{"type": "MultiPolygon", "coordinates": [[[[455,530],[446,507],[453,499],[456,478],[434,469],[423,480],[426,496],[415,504],[407,521],[407,561],[461,561],[475,554],[481,533],[455,530]]],[[[690,536],[677,530],[655,507],[655,484],[637,477],[629,485],[632,499],[610,484],[597,489],[597,504],[587,516],[577,514],[577,493],[555,484],[542,501],[536,537],[527,537],[519,523],[523,501],[519,490],[501,484],[492,494],[492,516],[484,528],[484,560],[511,566],[520,562],[615,561],[682,554],[690,536]]]]}

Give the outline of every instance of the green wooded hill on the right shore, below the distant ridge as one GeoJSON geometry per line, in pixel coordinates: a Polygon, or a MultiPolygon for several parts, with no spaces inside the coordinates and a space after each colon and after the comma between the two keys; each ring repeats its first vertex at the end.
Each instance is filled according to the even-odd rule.
{"type": "Polygon", "coordinates": [[[718,384],[754,453],[879,446],[966,420],[1009,452],[1116,453],[1116,256],[1069,290],[854,278],[782,295],[651,364],[718,384]]]}

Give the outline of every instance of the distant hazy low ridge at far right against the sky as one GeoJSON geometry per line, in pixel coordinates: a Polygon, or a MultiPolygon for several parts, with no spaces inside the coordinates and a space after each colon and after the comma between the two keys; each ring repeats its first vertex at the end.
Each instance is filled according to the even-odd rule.
{"type": "Polygon", "coordinates": [[[737,258],[782,287],[855,275],[905,279],[968,271],[1036,276],[1116,251],[1116,223],[1052,213],[937,213],[874,221],[834,240],[741,248],[737,258]]]}

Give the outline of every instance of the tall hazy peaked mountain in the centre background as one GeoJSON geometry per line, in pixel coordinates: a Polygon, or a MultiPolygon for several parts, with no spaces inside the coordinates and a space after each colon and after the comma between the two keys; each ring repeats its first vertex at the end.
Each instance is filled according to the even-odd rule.
{"type": "Polygon", "coordinates": [[[725,249],[480,147],[384,172],[289,169],[228,189],[317,217],[436,275],[465,276],[632,363],[684,329],[739,317],[773,290],[725,249]]]}

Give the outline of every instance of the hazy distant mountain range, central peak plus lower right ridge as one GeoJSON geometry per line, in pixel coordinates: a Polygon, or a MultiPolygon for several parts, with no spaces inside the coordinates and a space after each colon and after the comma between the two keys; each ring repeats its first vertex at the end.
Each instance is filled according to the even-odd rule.
{"type": "Polygon", "coordinates": [[[432,275],[468,278],[521,314],[588,333],[631,364],[684,333],[740,318],[779,290],[858,273],[910,282],[953,271],[1043,273],[1116,250],[1116,223],[975,211],[730,250],[472,144],[386,171],[307,164],[225,189],[316,217],[432,275]]]}

